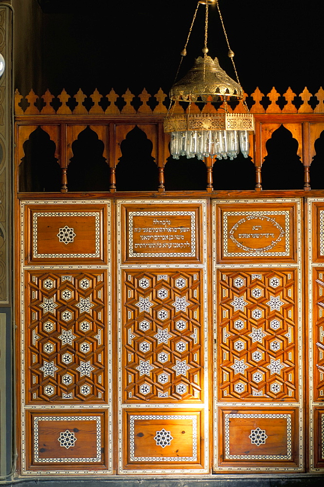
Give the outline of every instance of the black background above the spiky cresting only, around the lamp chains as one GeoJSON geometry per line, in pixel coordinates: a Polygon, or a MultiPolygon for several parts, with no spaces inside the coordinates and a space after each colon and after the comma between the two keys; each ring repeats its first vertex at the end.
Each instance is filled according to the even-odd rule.
{"type": "MultiPolygon", "coordinates": [[[[174,81],[196,0],[13,0],[16,9],[16,87],[53,94],[81,87],[106,95],[127,87],[150,94],[174,81]],[[24,10],[32,7],[28,19],[24,10]],[[24,36],[21,33],[25,32],[24,36]],[[16,36],[17,37],[17,36],[16,36]],[[23,39],[22,39],[23,37],[23,39]],[[31,47],[32,45],[32,47],[31,47]],[[29,79],[28,79],[29,76],[29,79]],[[31,86],[33,83],[34,86],[31,86]]],[[[241,85],[251,94],[272,86],[283,94],[315,94],[324,83],[324,2],[219,0],[241,85]]],[[[204,5],[190,37],[182,75],[203,47],[204,5]]],[[[216,6],[210,6],[209,55],[232,77],[216,6]]],[[[180,73],[180,75],[181,75],[180,73]]],[[[73,93],[72,93],[73,92],[73,93]]]]}

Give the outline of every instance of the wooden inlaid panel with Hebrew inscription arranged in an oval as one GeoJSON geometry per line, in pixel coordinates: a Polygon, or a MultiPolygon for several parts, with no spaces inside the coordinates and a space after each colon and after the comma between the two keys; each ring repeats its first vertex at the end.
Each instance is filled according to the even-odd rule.
{"type": "Polygon", "coordinates": [[[295,262],[295,203],[217,205],[217,262],[295,262]]]}

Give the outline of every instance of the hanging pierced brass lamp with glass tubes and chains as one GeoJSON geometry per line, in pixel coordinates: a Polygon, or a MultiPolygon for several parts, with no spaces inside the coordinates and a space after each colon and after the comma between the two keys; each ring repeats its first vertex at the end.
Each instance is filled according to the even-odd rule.
{"type": "Polygon", "coordinates": [[[186,44],[181,51],[181,61],[183,56],[187,54],[186,47],[199,4],[206,6],[203,56],[199,56],[195,60],[194,66],[183,78],[176,81],[170,90],[170,107],[164,119],[164,131],[171,132],[171,154],[174,159],[179,159],[180,155],[186,155],[187,158],[197,155],[198,159],[216,156],[217,159],[229,157],[233,160],[241,150],[244,157],[248,157],[250,150],[249,133],[254,132],[254,119],[245,103],[243,90],[238,81],[233,59],[234,53],[228,43],[218,0],[198,1],[186,44]],[[229,48],[228,56],[232,59],[237,82],[220,68],[217,58],[213,59],[207,56],[209,4],[217,5],[229,48]],[[174,114],[175,103],[178,101],[188,103],[186,113],[174,114]],[[239,101],[243,106],[243,112],[229,112],[229,101],[239,101]],[[217,103],[218,105],[222,103],[222,105],[217,112],[213,113],[206,112],[206,109],[202,110],[201,113],[191,112],[191,103],[206,105],[207,102],[217,103]]]}

